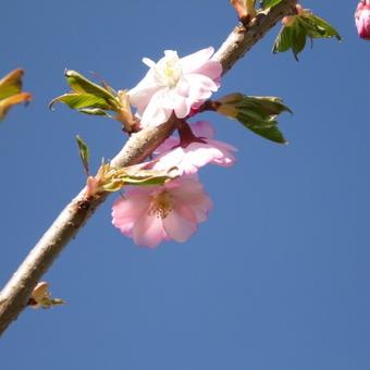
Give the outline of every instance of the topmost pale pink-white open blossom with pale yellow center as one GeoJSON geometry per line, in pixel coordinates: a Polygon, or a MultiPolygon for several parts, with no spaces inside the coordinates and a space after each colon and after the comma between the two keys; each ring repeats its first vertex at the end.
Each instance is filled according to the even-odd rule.
{"type": "Polygon", "coordinates": [[[141,126],[159,125],[174,111],[178,119],[186,118],[192,108],[199,107],[220,86],[221,63],[211,60],[212,47],[184,58],[165,50],[158,63],[148,58],[143,62],[150,70],[128,91],[130,101],[141,116],[141,126]]]}

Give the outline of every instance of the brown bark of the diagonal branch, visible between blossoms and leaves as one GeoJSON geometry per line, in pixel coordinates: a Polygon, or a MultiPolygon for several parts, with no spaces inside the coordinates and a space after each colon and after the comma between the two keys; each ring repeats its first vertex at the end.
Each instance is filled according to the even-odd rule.
{"type": "MultiPolygon", "coordinates": [[[[259,12],[247,26],[237,25],[214,54],[214,58],[222,64],[223,74],[243,58],[276,22],[294,13],[295,4],[296,0],[283,0],[271,10],[259,12]]],[[[133,134],[112,160],[112,164],[125,166],[140,163],[173,133],[174,123],[175,118],[171,116],[168,122],[158,127],[147,127],[133,134]]],[[[103,194],[98,199],[89,200],[85,197],[85,188],[82,189],[42,235],[0,293],[0,335],[27,306],[38,281],[107,197],[108,194],[103,194]]]]}

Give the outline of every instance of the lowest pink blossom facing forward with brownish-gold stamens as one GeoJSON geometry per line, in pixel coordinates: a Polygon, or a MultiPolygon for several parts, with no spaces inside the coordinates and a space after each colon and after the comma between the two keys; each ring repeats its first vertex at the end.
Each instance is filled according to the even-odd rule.
{"type": "Polygon", "coordinates": [[[208,218],[212,201],[195,176],[183,176],[161,186],[126,190],[112,209],[112,223],[140,246],[162,240],[185,242],[208,218]]]}

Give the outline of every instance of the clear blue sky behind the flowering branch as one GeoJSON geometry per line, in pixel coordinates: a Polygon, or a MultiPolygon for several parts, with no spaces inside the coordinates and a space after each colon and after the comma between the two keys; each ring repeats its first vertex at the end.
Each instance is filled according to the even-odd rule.
{"type": "MultiPolygon", "coordinates": [[[[275,28],[218,95],[282,97],[295,112],[281,118],[291,144],[205,115],[239,149],[234,168],[200,174],[209,221],[186,244],[139,248],[111,226],[112,196],[46,276],[67,305],[25,311],[0,341],[3,369],[370,368],[370,44],[355,1],[304,5],[343,42],[318,40],[297,63],[271,54],[275,28]]],[[[34,101],[0,126],[1,285],[84,185],[75,135],[92,168],[124,143],[113,121],[48,110],[64,69],[130,88],[143,57],[218,47],[236,23],[226,0],[13,0],[2,14],[0,74],[24,67],[34,101]]]]}

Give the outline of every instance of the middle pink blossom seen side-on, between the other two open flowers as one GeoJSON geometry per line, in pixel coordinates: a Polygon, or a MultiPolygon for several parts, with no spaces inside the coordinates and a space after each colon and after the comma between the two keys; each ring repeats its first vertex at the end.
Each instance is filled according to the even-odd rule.
{"type": "Polygon", "coordinates": [[[194,174],[199,168],[213,163],[222,166],[231,166],[235,162],[233,155],[237,149],[226,143],[212,139],[213,127],[206,121],[199,121],[192,125],[195,140],[182,146],[180,138],[170,137],[158,149],[158,162],[156,170],[166,170],[176,166],[180,174],[194,174]]]}

